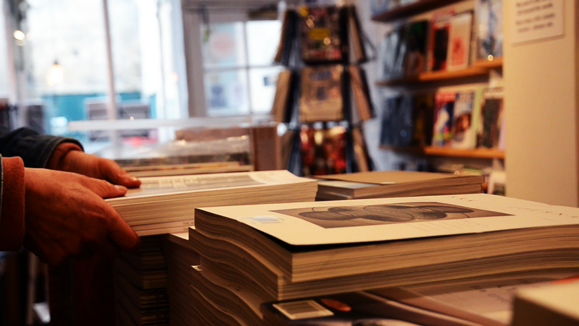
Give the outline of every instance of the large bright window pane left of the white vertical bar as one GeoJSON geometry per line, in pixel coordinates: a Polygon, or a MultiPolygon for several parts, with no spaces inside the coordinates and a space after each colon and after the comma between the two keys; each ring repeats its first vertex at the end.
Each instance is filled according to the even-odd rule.
{"type": "MultiPolygon", "coordinates": [[[[67,121],[87,119],[85,99],[104,96],[107,63],[102,0],[35,0],[21,23],[20,110],[30,126],[62,134],[67,121]],[[55,65],[58,63],[58,65],[55,65]]],[[[68,134],[83,139],[85,134],[68,134]]]]}

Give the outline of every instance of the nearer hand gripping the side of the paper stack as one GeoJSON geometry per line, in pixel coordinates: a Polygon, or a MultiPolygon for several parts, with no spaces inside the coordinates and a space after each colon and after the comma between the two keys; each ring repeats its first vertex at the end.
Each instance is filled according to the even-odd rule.
{"type": "Polygon", "coordinates": [[[127,189],[70,172],[26,168],[24,246],[49,265],[94,253],[116,258],[141,239],[103,198],[127,189]]]}

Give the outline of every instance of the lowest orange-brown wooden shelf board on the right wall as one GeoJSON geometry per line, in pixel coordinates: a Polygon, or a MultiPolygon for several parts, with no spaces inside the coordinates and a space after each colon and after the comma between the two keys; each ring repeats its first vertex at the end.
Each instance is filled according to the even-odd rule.
{"type": "Polygon", "coordinates": [[[394,152],[407,152],[412,154],[422,154],[427,156],[449,156],[463,157],[468,159],[505,159],[504,150],[494,150],[487,148],[477,148],[475,150],[460,150],[451,147],[387,147],[380,146],[383,150],[392,150],[394,152]]]}

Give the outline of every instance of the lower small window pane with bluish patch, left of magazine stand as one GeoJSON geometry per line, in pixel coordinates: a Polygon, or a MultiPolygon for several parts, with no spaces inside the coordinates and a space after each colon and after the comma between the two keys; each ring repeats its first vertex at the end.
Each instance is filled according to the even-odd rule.
{"type": "Polygon", "coordinates": [[[205,99],[210,116],[247,114],[247,72],[205,72],[205,99]]]}

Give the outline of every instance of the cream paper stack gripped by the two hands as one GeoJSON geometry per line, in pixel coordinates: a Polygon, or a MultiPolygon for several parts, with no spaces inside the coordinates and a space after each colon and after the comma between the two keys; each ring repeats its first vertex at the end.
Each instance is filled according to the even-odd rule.
{"type": "Polygon", "coordinates": [[[314,201],[317,181],[286,170],[141,178],[106,201],[139,236],[187,232],[195,207],[314,201]]]}

